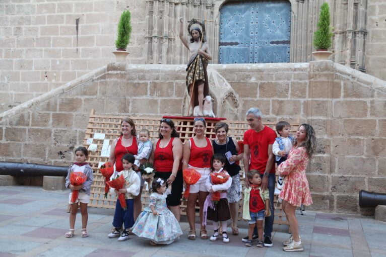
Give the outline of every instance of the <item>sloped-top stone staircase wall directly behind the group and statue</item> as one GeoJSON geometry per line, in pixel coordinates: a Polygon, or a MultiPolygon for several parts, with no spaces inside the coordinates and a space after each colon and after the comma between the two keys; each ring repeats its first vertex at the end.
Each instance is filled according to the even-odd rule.
{"type": "MultiPolygon", "coordinates": [[[[237,93],[237,119],[296,119],[316,130],[308,168],[314,210],[359,213],[358,191],[386,193],[386,82],[332,61],[211,64],[237,93]]],[[[0,114],[1,161],[67,165],[97,114],[181,115],[184,65],[110,63],[0,114]]]]}

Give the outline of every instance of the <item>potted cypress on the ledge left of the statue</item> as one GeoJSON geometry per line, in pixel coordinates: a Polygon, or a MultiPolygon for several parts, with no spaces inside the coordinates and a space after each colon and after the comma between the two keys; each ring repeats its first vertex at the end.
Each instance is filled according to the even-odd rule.
{"type": "Polygon", "coordinates": [[[126,56],[128,55],[128,52],[126,52],[126,47],[130,42],[130,36],[132,34],[130,18],[130,11],[126,10],[123,11],[119,19],[117,38],[115,41],[116,51],[112,52],[115,55],[116,61],[125,61],[126,56]]]}

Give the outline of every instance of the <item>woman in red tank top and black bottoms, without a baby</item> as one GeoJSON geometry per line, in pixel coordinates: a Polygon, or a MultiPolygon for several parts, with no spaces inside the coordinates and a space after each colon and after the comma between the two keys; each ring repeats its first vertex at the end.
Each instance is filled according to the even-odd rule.
{"type": "Polygon", "coordinates": [[[157,170],[155,177],[161,178],[172,185],[171,194],[166,198],[166,205],[179,221],[180,200],[183,188],[181,157],[182,141],[178,138],[174,123],[170,119],[162,119],[159,139],[155,140],[150,161],[157,170]]]}

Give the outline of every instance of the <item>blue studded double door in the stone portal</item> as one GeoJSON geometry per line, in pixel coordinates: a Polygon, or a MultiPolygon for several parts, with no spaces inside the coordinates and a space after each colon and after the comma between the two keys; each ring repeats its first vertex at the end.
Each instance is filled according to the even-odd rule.
{"type": "Polygon", "coordinates": [[[290,61],[288,1],[229,2],[220,10],[219,63],[290,61]]]}

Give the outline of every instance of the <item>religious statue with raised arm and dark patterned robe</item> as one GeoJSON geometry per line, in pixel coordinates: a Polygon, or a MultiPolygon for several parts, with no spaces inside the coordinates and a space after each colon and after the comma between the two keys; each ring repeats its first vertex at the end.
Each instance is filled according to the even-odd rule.
{"type": "Polygon", "coordinates": [[[179,38],[190,52],[186,68],[186,87],[190,96],[188,115],[204,116],[204,96],[209,96],[207,66],[208,60],[212,60],[209,46],[205,42],[205,24],[195,19],[189,22],[187,30],[190,35],[190,43],[188,43],[183,37],[183,18],[180,17],[179,21],[179,38]],[[198,112],[193,112],[196,106],[198,106],[198,112]]]}

